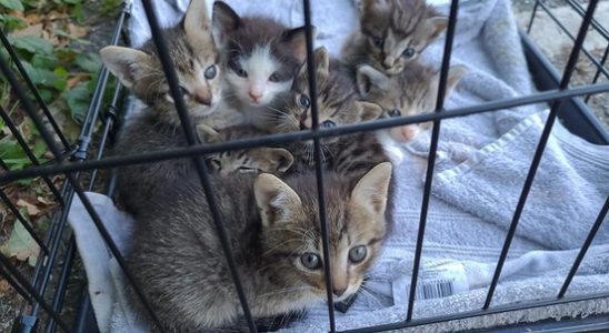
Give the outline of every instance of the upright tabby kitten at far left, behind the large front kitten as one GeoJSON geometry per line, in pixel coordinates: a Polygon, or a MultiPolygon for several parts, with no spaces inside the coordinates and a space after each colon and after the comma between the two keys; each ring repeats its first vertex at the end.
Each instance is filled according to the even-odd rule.
{"type": "MultiPolygon", "coordinates": [[[[203,0],[193,0],[183,21],[163,30],[188,112],[196,122],[212,114],[221,99],[221,67],[210,30],[203,0]]],[[[186,147],[186,137],[152,41],[139,50],[107,47],[100,53],[103,63],[121,83],[148,104],[121,129],[113,154],[186,147]]],[[[193,173],[190,159],[119,168],[119,199],[129,212],[138,215],[147,210],[150,196],[178,185],[193,173]]]]}

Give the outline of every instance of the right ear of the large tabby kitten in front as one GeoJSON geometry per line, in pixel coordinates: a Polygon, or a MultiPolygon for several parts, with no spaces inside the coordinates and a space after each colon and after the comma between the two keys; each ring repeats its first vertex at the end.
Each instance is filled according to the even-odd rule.
{"type": "Polygon", "coordinates": [[[368,171],[356,184],[351,200],[371,213],[385,214],[391,169],[391,163],[382,162],[368,171]]]}

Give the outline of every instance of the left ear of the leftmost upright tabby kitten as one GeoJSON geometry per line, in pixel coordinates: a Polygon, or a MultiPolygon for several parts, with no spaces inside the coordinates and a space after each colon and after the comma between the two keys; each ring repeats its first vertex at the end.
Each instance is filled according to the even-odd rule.
{"type": "Polygon", "coordinates": [[[106,47],[99,54],[108,70],[127,88],[133,87],[143,71],[142,65],[151,60],[151,56],[140,50],[123,47],[106,47]]]}

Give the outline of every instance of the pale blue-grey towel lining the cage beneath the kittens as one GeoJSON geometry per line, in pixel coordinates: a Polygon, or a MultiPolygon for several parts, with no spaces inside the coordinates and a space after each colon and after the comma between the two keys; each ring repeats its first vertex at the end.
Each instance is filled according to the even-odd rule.
{"type": "MultiPolygon", "coordinates": [[[[302,24],[300,0],[227,2],[239,13],[258,12],[276,17],[288,26],[302,24]]],[[[357,10],[351,0],[311,2],[313,23],[318,28],[316,43],[337,54],[340,43],[356,29],[357,10]]],[[[154,1],[158,11],[163,13],[160,16],[163,26],[178,22],[187,3],[187,0],[154,1]]],[[[451,64],[463,64],[469,72],[447,101],[447,109],[531,93],[532,84],[509,1],[460,3],[451,64]]],[[[446,7],[442,10],[448,11],[446,7]]],[[[129,27],[133,44],[141,44],[149,37],[139,1],[134,2],[129,27]]],[[[423,61],[439,67],[442,47],[443,40],[430,46],[423,53],[423,61]]],[[[441,122],[416,319],[482,306],[536,138],[540,135],[547,114],[541,107],[513,108],[441,122]]],[[[607,188],[602,188],[609,185],[607,148],[571,135],[560,123],[555,128],[539,179],[511,244],[493,305],[556,297],[593,223],[593,216],[589,215],[598,213],[602,204],[599,200],[607,198],[607,188]]],[[[406,316],[429,132],[397,149],[402,160],[395,167],[395,226],[369,274],[365,291],[347,313],[337,312],[339,330],[397,322],[406,316]]],[[[108,198],[88,195],[114,240],[126,249],[132,219],[118,211],[108,198]]],[[[124,278],[78,200],[73,202],[69,222],[88,273],[89,292],[101,332],[146,332],[147,317],[136,317],[126,303],[124,278]]],[[[575,278],[569,295],[609,291],[608,243],[603,226],[575,278]]],[[[473,330],[608,311],[609,300],[599,299],[463,319],[410,331],[473,330]]],[[[327,332],[328,327],[327,306],[320,304],[286,331],[327,332]]]]}

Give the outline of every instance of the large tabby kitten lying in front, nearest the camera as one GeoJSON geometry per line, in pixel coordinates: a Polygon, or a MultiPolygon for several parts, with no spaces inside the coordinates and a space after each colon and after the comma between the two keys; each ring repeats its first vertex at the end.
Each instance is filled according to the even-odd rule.
{"type": "MultiPolygon", "coordinates": [[[[390,176],[389,163],[360,179],[326,176],[337,302],[358,292],[380,251],[390,176]]],[[[268,173],[212,179],[254,317],[326,300],[315,178],[309,172],[283,181],[268,173]]],[[[137,226],[129,266],[167,331],[236,330],[241,306],[200,184],[184,182],[171,190],[152,200],[147,224],[137,226]]]]}

